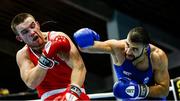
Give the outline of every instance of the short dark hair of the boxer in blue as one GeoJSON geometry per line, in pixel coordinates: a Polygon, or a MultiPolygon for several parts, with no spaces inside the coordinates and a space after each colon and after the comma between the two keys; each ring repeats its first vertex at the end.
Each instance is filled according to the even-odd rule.
{"type": "Polygon", "coordinates": [[[135,27],[129,31],[131,42],[148,45],[150,43],[149,33],[143,27],[135,27]]]}

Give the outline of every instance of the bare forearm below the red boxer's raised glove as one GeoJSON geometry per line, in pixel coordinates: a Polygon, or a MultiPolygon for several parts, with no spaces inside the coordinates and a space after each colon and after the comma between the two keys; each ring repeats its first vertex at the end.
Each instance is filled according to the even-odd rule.
{"type": "Polygon", "coordinates": [[[47,70],[40,68],[39,65],[35,66],[31,70],[24,72],[24,82],[29,88],[36,88],[46,76],[47,70]]]}

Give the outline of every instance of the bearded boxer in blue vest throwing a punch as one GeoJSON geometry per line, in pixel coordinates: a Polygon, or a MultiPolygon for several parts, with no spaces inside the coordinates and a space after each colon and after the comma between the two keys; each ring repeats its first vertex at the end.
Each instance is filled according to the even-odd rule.
{"type": "Polygon", "coordinates": [[[99,41],[89,28],[74,33],[82,52],[110,54],[118,81],[113,86],[116,98],[124,100],[164,100],[169,94],[170,77],[165,52],[150,43],[143,27],[131,29],[126,39],[99,41]]]}

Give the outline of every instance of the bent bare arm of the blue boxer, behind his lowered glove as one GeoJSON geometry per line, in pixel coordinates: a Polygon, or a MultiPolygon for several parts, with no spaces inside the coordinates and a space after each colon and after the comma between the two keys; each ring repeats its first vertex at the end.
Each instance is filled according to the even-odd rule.
{"type": "Polygon", "coordinates": [[[155,85],[150,86],[150,97],[162,97],[167,96],[169,93],[169,73],[168,73],[168,59],[166,54],[158,50],[154,53],[154,79],[155,85]]]}

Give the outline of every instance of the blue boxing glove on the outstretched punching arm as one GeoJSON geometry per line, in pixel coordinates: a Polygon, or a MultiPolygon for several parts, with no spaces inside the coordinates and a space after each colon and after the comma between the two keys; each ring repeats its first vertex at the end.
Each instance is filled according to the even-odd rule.
{"type": "Polygon", "coordinates": [[[81,28],[74,33],[74,40],[80,48],[94,45],[94,40],[100,40],[99,34],[89,28],[81,28]]]}

